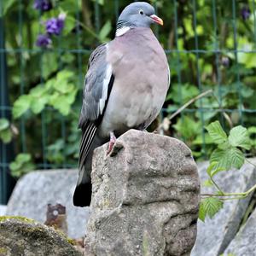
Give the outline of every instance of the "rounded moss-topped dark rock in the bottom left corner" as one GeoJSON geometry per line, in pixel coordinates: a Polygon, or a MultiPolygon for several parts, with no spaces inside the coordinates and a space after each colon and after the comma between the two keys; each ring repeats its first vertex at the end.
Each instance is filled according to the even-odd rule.
{"type": "Polygon", "coordinates": [[[30,219],[0,217],[0,255],[80,256],[60,232],[30,219]]]}

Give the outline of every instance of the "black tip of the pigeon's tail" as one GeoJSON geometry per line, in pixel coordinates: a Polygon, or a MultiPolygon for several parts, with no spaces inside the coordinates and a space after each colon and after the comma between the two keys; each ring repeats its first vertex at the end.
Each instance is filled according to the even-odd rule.
{"type": "Polygon", "coordinates": [[[73,194],[75,207],[89,207],[91,200],[91,183],[80,183],[73,194]]]}

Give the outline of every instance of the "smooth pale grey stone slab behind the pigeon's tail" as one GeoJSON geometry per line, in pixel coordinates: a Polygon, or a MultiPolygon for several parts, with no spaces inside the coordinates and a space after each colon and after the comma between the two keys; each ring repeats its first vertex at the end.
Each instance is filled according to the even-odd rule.
{"type": "Polygon", "coordinates": [[[89,218],[89,207],[73,206],[73,191],[78,171],[38,171],[20,178],[7,207],[7,215],[33,218],[40,223],[46,220],[47,205],[60,203],[67,210],[68,236],[84,236],[89,218]]]}

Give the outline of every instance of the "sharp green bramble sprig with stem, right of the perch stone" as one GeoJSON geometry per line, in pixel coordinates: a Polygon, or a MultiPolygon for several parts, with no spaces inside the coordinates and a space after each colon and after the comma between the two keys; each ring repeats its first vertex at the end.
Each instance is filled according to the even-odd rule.
{"type": "Polygon", "coordinates": [[[210,179],[206,185],[215,186],[217,192],[212,195],[202,195],[203,198],[199,209],[199,218],[202,221],[205,221],[207,216],[212,218],[223,207],[224,200],[245,198],[256,189],[256,185],[254,185],[247,192],[224,193],[213,180],[213,177],[218,172],[230,171],[231,168],[241,168],[246,160],[242,150],[249,150],[252,146],[248,130],[238,125],[232,128],[230,135],[227,136],[220,123],[215,121],[207,125],[207,131],[218,148],[213,150],[210,158],[210,165],[207,168],[207,174],[210,179]]]}

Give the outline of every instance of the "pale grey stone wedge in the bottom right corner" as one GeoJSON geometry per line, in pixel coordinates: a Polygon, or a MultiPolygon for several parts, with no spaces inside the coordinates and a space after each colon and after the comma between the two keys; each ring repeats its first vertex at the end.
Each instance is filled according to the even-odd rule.
{"type": "Polygon", "coordinates": [[[256,253],[256,210],[248,218],[247,223],[230,242],[224,255],[232,253],[236,256],[253,256],[256,253]]]}

